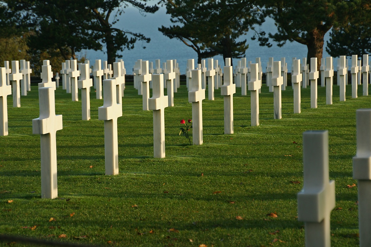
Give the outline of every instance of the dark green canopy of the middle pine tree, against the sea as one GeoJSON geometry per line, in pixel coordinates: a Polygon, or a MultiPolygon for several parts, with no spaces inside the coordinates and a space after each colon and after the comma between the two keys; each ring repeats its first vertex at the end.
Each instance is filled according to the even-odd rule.
{"type": "Polygon", "coordinates": [[[201,59],[215,55],[242,57],[248,48],[238,38],[254,24],[264,21],[262,11],[252,1],[164,0],[175,25],[159,30],[170,39],[181,40],[201,59]]]}

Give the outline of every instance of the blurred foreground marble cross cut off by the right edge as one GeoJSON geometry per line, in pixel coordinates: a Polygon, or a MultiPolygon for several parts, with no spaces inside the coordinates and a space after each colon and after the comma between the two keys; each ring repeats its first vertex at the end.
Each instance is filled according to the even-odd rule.
{"type": "MultiPolygon", "coordinates": [[[[357,56],[357,55],[356,55],[357,56]]],[[[358,180],[359,246],[371,246],[371,109],[356,111],[357,154],[353,179],[358,180]]]]}

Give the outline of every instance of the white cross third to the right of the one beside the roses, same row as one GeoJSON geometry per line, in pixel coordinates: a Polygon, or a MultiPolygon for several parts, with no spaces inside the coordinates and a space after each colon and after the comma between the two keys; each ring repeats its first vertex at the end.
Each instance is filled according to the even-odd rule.
{"type": "Polygon", "coordinates": [[[280,68],[281,61],[273,62],[272,87],[273,87],[274,119],[282,118],[281,86],[283,84],[283,77],[281,76],[280,68]]]}

